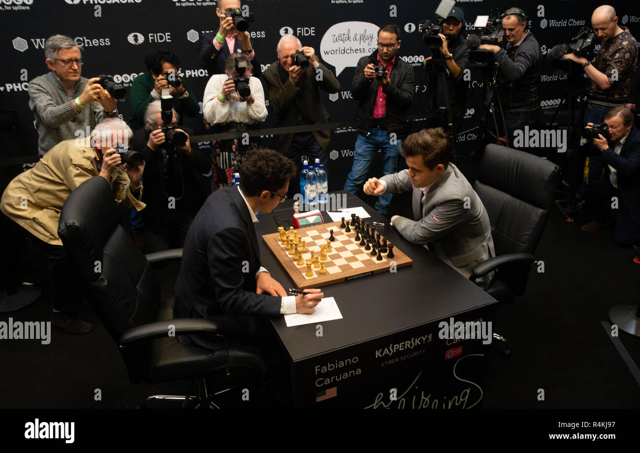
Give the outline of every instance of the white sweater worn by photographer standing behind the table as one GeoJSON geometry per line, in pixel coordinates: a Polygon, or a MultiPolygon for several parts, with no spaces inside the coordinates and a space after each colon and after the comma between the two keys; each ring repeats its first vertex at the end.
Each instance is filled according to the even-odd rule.
{"type": "Polygon", "coordinates": [[[253,124],[266,120],[267,107],[264,105],[264,90],[259,79],[257,77],[249,79],[249,88],[251,88],[253,99],[255,99],[252,105],[234,99],[237,92],[227,96],[225,102],[218,100],[222,85],[227,79],[227,74],[216,74],[209,79],[207,88],[204,89],[202,103],[202,115],[205,121],[211,124],[228,122],[253,124]]]}

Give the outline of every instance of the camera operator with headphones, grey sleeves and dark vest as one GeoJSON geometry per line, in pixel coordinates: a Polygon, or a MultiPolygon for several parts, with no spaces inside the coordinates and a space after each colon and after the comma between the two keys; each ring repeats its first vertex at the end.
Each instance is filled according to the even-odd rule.
{"type": "Polygon", "coordinates": [[[513,147],[514,131],[522,131],[525,125],[535,128],[539,122],[541,53],[540,44],[527,29],[527,17],[520,8],[511,8],[502,15],[502,28],[507,40],[504,49],[491,44],[481,44],[479,49],[492,52],[498,63],[497,94],[502,103],[509,146],[513,147]]]}

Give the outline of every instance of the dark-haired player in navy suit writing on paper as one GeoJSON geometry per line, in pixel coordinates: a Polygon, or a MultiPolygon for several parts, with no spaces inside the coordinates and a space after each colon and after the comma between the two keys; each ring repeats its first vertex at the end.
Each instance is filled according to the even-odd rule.
{"type": "MultiPolygon", "coordinates": [[[[212,193],[196,215],[184,243],[175,283],[176,318],[212,319],[229,344],[259,336],[257,317],[312,313],[319,289],[287,296],[264,267],[253,223],[283,202],[295,172],[291,159],[273,150],[250,153],[240,168],[240,185],[212,193]]],[[[180,337],[209,349],[223,344],[191,335],[180,337]]],[[[250,341],[249,341],[250,342],[250,341]]]]}

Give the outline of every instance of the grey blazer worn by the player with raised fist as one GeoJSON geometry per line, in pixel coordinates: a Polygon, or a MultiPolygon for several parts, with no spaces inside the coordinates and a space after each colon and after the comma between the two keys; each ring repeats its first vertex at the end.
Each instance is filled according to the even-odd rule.
{"type": "Polygon", "coordinates": [[[404,239],[425,244],[436,257],[465,277],[477,263],[495,256],[489,216],[467,178],[449,164],[429,188],[424,205],[422,190],[413,187],[407,170],[381,177],[385,193],[413,191],[413,218],[399,217],[394,227],[404,239]]]}

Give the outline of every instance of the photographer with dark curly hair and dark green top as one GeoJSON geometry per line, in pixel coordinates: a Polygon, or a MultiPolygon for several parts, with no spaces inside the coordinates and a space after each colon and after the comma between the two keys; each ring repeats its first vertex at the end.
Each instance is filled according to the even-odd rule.
{"type": "Polygon", "coordinates": [[[179,118],[195,118],[200,113],[200,104],[187,81],[178,77],[180,59],[172,51],[158,49],[145,57],[149,72],[136,77],[131,84],[131,118],[129,127],[135,132],[145,126],[147,106],[159,100],[162,90],[168,88],[173,96],[173,106],[179,118]]]}

